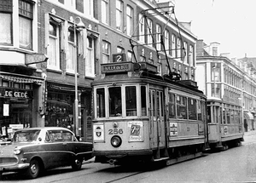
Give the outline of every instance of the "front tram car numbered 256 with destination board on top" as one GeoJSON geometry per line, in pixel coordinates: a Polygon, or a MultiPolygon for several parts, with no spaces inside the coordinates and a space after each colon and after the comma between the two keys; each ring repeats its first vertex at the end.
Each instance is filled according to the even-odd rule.
{"type": "Polygon", "coordinates": [[[162,77],[147,62],[101,69],[92,83],[96,162],[172,164],[206,150],[207,98],[195,82],[162,77]]]}

